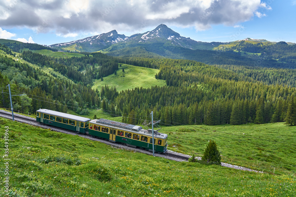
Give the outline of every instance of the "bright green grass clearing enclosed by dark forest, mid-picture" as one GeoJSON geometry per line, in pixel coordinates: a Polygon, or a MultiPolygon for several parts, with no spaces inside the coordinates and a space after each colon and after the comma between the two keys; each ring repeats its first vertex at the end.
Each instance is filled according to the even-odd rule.
{"type": "Polygon", "coordinates": [[[103,81],[96,79],[92,88],[101,90],[101,87],[107,84],[109,87],[116,87],[117,91],[121,91],[135,87],[149,88],[155,85],[166,85],[164,80],[155,79],[155,74],[158,72],[157,69],[122,64],[122,67],[117,70],[117,75],[106,76],[103,81]],[[124,73],[122,68],[124,68],[124,73]]]}

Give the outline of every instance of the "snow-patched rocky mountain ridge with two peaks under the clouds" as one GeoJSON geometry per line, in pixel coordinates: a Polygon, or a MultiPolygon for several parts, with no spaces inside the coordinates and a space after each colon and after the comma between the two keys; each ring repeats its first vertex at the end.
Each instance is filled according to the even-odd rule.
{"type": "Polygon", "coordinates": [[[220,42],[199,42],[190,38],[185,38],[179,33],[168,28],[166,25],[161,24],[152,31],[134,34],[129,37],[118,34],[116,30],[112,30],[108,33],[103,33],[68,43],[53,44],[49,47],[59,50],[94,52],[108,48],[112,45],[123,45],[123,47],[126,47],[152,43],[164,43],[166,45],[189,49],[213,49],[214,47],[223,44],[220,42]]]}

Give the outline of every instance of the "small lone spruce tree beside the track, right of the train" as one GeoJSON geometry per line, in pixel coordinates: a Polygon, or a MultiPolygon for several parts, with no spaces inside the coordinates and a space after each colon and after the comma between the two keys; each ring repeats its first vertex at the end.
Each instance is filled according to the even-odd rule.
{"type": "Polygon", "coordinates": [[[209,144],[207,144],[202,160],[207,163],[221,165],[220,151],[218,150],[215,141],[210,140],[209,144]]]}

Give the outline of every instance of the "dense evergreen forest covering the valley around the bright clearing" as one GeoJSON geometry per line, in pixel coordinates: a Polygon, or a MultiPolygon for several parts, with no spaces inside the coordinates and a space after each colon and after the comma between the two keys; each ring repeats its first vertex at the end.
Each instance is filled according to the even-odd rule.
{"type": "MultiPolygon", "coordinates": [[[[174,54],[179,55],[171,53],[171,58],[154,53],[152,48],[150,52],[134,48],[141,52],[129,56],[114,51],[57,58],[34,52],[49,49],[41,45],[0,44],[0,105],[10,108],[6,86],[11,84],[13,94],[26,94],[12,97],[14,110],[26,113],[47,108],[65,113],[73,110],[83,116],[91,109],[102,109],[114,117],[122,116],[122,122],[142,124],[153,111],[154,118],[164,125],[296,125],[294,45],[241,42],[223,51],[188,53],[190,49],[174,48],[174,54]],[[272,50],[276,53],[270,54],[272,50]],[[185,59],[189,56],[194,58],[185,59]],[[94,80],[116,73],[121,64],[159,69],[155,79],[165,80],[166,85],[131,87],[121,92],[108,84],[92,89],[94,80]]],[[[131,52],[133,48],[120,50],[131,52]]]]}

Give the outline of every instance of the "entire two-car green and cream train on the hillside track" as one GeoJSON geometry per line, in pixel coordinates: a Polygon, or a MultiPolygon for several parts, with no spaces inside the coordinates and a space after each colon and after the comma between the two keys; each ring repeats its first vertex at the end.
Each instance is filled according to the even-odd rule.
{"type": "Polygon", "coordinates": [[[93,137],[121,142],[131,147],[154,150],[157,153],[167,151],[168,135],[154,130],[154,144],[152,143],[152,129],[141,126],[110,121],[107,119],[84,118],[77,115],[57,112],[48,109],[36,111],[36,121],[59,128],[64,128],[77,133],[86,133],[93,137]]]}

